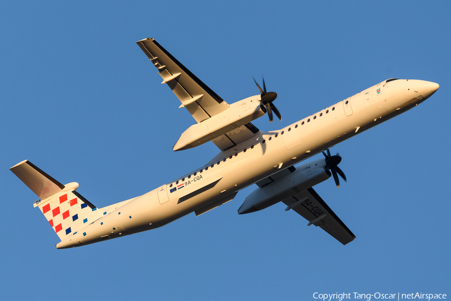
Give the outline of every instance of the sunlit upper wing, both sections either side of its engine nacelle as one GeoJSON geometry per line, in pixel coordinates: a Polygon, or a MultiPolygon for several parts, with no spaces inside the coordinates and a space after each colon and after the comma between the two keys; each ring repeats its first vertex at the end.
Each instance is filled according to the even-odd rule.
{"type": "MultiPolygon", "coordinates": [[[[167,84],[180,100],[179,108],[186,108],[197,123],[230,107],[154,39],[147,38],[136,43],[157,68],[163,79],[162,84],[167,84]]],[[[248,123],[212,141],[220,150],[225,150],[248,140],[258,132],[258,128],[248,123]]]]}

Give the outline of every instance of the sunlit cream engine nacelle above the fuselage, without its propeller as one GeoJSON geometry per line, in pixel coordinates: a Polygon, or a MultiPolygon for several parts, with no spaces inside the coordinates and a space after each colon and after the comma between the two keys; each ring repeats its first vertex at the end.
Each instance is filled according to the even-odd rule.
{"type": "Polygon", "coordinates": [[[266,109],[261,104],[260,95],[252,96],[230,105],[229,109],[184,131],[172,150],[179,151],[204,144],[238,127],[262,117],[266,109]]]}

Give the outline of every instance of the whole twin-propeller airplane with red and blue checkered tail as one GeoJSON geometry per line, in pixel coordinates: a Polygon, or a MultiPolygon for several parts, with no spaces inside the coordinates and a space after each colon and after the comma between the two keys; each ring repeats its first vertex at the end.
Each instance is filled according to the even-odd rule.
{"type": "Polygon", "coordinates": [[[228,104],[154,39],[136,42],[196,123],[184,131],[173,151],[213,142],[220,152],[206,164],[150,192],[97,208],[78,193],[78,183],[61,184],[28,160],[11,167],[39,197],[41,209],[60,242],[58,249],[87,245],[166,225],[194,212],[197,216],[235,198],[250,185],[239,214],[283,202],[307,225],[321,227],[343,245],[355,235],[313,189],[330,177],[346,181],[331,155],[334,145],[417,106],[438,89],[422,80],[391,78],[280,130],[264,132],[251,122],[273,113],[275,92],[255,81],[260,94],[228,104]],[[296,164],[322,153],[324,158],[296,164]]]}

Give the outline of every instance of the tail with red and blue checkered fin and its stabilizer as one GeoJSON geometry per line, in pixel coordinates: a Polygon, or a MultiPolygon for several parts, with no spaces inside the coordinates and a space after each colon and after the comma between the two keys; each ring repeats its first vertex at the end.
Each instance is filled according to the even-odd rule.
{"type": "Polygon", "coordinates": [[[75,191],[78,183],[63,185],[28,160],[10,169],[39,197],[34,206],[61,240],[106,214],[75,191]]]}

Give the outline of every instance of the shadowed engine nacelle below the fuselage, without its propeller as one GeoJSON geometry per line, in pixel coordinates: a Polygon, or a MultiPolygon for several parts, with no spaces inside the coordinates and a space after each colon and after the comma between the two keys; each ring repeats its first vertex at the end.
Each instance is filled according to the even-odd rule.
{"type": "Polygon", "coordinates": [[[331,173],[325,170],[325,166],[325,159],[318,159],[296,167],[293,173],[271,184],[257,188],[246,197],[238,209],[238,214],[265,209],[327,180],[331,173]]]}

